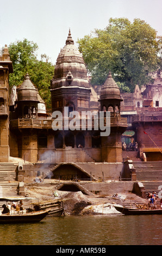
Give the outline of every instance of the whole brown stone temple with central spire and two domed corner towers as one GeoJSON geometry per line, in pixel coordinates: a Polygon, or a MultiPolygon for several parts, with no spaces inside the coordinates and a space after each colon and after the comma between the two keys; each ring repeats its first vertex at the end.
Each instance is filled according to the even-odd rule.
{"type": "MultiPolygon", "coordinates": [[[[11,156],[32,163],[122,162],[121,135],[127,128],[127,118],[121,117],[120,90],[110,73],[98,98],[70,31],[55,65],[51,101],[53,114],[49,117],[45,103],[27,74],[10,108],[11,156]],[[105,110],[111,112],[109,136],[101,136],[103,129],[99,126],[99,112],[105,110]],[[63,118],[61,129],[57,113],[68,117],[66,124],[63,118]],[[74,129],[70,128],[72,123],[74,129]]],[[[103,117],[104,125],[105,120],[103,117]]]]}

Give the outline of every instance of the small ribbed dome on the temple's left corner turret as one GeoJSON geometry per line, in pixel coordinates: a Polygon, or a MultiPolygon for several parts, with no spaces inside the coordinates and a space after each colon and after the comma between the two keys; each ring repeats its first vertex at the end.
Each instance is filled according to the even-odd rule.
{"type": "Polygon", "coordinates": [[[18,89],[17,101],[38,101],[38,94],[34,84],[30,81],[28,73],[18,89]]]}

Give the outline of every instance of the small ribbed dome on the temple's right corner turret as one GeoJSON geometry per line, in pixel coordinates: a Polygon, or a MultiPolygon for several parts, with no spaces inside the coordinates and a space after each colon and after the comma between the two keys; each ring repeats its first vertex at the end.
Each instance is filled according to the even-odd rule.
{"type": "Polygon", "coordinates": [[[115,83],[111,72],[109,72],[108,78],[101,87],[101,100],[104,99],[121,99],[120,89],[115,83]]]}

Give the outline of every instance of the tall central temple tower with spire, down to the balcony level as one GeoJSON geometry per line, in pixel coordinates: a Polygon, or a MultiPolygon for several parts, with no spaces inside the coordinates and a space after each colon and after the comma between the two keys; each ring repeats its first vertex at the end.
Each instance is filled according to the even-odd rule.
{"type": "Polygon", "coordinates": [[[52,112],[87,111],[90,102],[90,85],[82,54],[74,46],[69,30],[66,45],[61,49],[51,81],[52,112]]]}

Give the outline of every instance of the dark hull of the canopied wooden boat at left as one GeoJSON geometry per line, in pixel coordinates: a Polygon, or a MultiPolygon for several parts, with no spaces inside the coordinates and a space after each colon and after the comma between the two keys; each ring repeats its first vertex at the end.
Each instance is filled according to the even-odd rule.
{"type": "Polygon", "coordinates": [[[48,211],[33,212],[30,214],[0,215],[0,223],[31,223],[40,222],[48,215],[48,211]]]}

